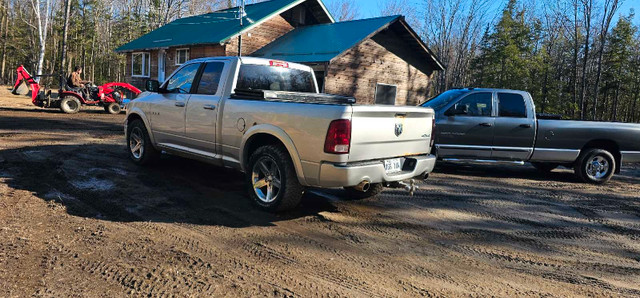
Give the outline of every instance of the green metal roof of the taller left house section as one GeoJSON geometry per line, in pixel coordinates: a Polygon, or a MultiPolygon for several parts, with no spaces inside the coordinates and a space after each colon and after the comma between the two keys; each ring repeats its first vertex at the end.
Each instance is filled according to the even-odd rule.
{"type": "MultiPolygon", "coordinates": [[[[237,7],[177,19],[117,48],[116,52],[223,43],[241,32],[249,30],[259,23],[305,1],[306,0],[271,0],[246,5],[246,16],[243,18],[244,26],[240,26],[240,21],[237,19],[237,7]]],[[[318,4],[326,12],[321,0],[318,0],[318,4]]],[[[330,21],[333,22],[328,12],[327,15],[330,21]]]]}

